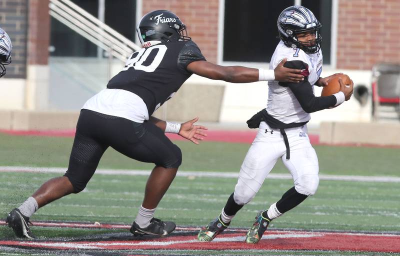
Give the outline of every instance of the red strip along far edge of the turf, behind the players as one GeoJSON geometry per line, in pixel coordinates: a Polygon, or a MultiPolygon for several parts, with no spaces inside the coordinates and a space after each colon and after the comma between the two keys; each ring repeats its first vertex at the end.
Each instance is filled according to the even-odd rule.
{"type": "MultiPolygon", "coordinates": [[[[0,132],[10,135],[30,135],[30,136],[59,136],[59,137],[72,137],[75,135],[75,130],[4,130],[0,132]]],[[[257,133],[256,129],[251,130],[207,130],[207,136],[204,141],[220,141],[220,142],[233,142],[233,143],[251,143],[257,133]]],[[[166,133],[166,136],[171,140],[185,140],[185,138],[175,133],[166,133]]],[[[319,136],[315,134],[308,134],[311,144],[319,143],[319,136]]]]}

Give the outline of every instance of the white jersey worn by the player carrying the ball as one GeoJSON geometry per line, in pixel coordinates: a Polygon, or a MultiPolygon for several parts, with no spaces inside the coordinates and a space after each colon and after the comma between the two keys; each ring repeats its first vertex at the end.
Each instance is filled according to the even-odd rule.
{"type": "MultiPolygon", "coordinates": [[[[322,52],[307,54],[299,48],[287,47],[280,40],[273,52],[269,69],[274,69],[279,62],[287,58],[301,60],[308,65],[308,81],[313,86],[322,72],[322,52]]],[[[269,115],[284,123],[304,122],[310,119],[310,114],[305,112],[289,87],[278,84],[278,81],[268,81],[268,102],[266,110],[269,115]]]]}

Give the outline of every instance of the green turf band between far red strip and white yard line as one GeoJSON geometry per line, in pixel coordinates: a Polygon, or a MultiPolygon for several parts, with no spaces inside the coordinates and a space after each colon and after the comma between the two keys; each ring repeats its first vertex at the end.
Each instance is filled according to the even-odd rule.
{"type": "MultiPolygon", "coordinates": [[[[12,136],[0,133],[0,165],[67,167],[70,137],[12,136]]],[[[249,144],[202,141],[175,142],[183,154],[182,170],[238,171],[249,144]]],[[[400,148],[314,146],[322,174],[400,176],[400,148]]],[[[152,164],[134,161],[107,149],[99,168],[151,169],[152,164]]],[[[275,173],[287,173],[278,161],[275,173]]]]}

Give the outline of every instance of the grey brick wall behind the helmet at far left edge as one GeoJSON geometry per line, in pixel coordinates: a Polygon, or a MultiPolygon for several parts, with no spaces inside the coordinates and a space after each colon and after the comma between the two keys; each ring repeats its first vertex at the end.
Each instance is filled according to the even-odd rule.
{"type": "Polygon", "coordinates": [[[5,66],[5,78],[26,77],[26,36],[28,0],[1,0],[0,26],[12,44],[12,62],[5,66]]]}

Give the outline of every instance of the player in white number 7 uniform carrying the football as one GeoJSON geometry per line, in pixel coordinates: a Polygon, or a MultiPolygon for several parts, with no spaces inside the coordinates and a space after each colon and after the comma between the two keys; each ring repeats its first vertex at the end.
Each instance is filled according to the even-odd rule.
{"type": "Polygon", "coordinates": [[[347,87],[339,79],[339,92],[324,97],[314,95],[313,85],[324,86],[337,74],[319,77],[322,71],[321,24],[309,9],[300,5],[284,9],[277,27],[280,41],[269,68],[287,58],[284,66],[303,69],[304,80],[299,83],[268,81],[266,109],[247,121],[250,128],[259,127],[259,130],[240,167],[234,191],[221,213],[198,232],[200,241],[211,241],[229,225],[236,212],[255,196],[278,158],[290,171],[294,186],[269,208],[258,212],[246,233],[246,242],[257,243],[272,219],[314,194],[319,183],[318,159],[307,135],[309,113],[337,106],[352,94],[352,84],[347,87]]]}

